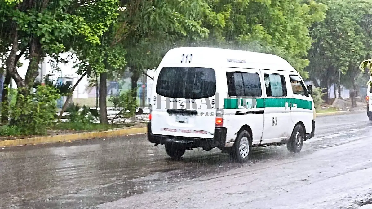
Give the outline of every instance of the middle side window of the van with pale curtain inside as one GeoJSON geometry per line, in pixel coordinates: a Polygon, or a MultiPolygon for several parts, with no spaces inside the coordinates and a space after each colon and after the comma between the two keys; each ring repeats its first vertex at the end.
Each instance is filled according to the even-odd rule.
{"type": "Polygon", "coordinates": [[[264,74],[266,95],[268,97],[286,97],[287,87],[284,75],[264,74]]]}

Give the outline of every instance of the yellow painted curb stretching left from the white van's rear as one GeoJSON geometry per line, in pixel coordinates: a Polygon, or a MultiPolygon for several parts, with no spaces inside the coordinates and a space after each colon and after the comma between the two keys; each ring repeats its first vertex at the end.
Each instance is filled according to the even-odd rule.
{"type": "Polygon", "coordinates": [[[146,134],[147,128],[132,128],[132,129],[119,129],[112,131],[102,131],[102,132],[84,132],[77,134],[65,134],[65,135],[55,135],[55,136],[41,136],[35,138],[26,139],[10,139],[0,141],[0,147],[16,147],[26,144],[47,144],[52,142],[71,142],[82,139],[93,139],[93,138],[105,138],[113,136],[125,136],[134,134],[146,134]]]}

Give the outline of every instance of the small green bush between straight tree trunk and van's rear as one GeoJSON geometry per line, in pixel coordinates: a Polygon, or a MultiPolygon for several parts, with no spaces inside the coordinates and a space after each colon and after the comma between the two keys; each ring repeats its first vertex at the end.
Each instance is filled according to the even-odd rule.
{"type": "Polygon", "coordinates": [[[109,101],[113,103],[114,108],[119,110],[115,117],[111,120],[118,118],[131,118],[135,116],[137,108],[137,100],[132,97],[132,91],[121,92],[119,95],[113,95],[109,98],[109,101]]]}

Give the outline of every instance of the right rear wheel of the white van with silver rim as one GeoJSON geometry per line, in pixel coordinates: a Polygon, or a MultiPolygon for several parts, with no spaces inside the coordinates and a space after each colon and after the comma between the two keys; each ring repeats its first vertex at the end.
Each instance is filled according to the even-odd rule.
{"type": "Polygon", "coordinates": [[[251,156],[252,137],[248,131],[241,131],[231,149],[231,157],[239,163],[246,163],[251,156]]]}

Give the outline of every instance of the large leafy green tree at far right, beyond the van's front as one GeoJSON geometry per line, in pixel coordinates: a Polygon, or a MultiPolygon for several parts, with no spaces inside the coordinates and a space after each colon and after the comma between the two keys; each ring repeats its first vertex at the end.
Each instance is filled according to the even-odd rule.
{"type": "MultiPolygon", "coordinates": [[[[308,59],[311,80],[319,80],[319,86],[328,88],[341,84],[350,88],[352,107],[356,106],[356,80],[360,60],[371,53],[372,4],[363,0],[320,0],[329,9],[324,22],[312,26],[314,39],[308,59]]],[[[340,90],[339,90],[340,94],[340,90]]],[[[328,95],[326,94],[326,98],[328,95]]]]}

